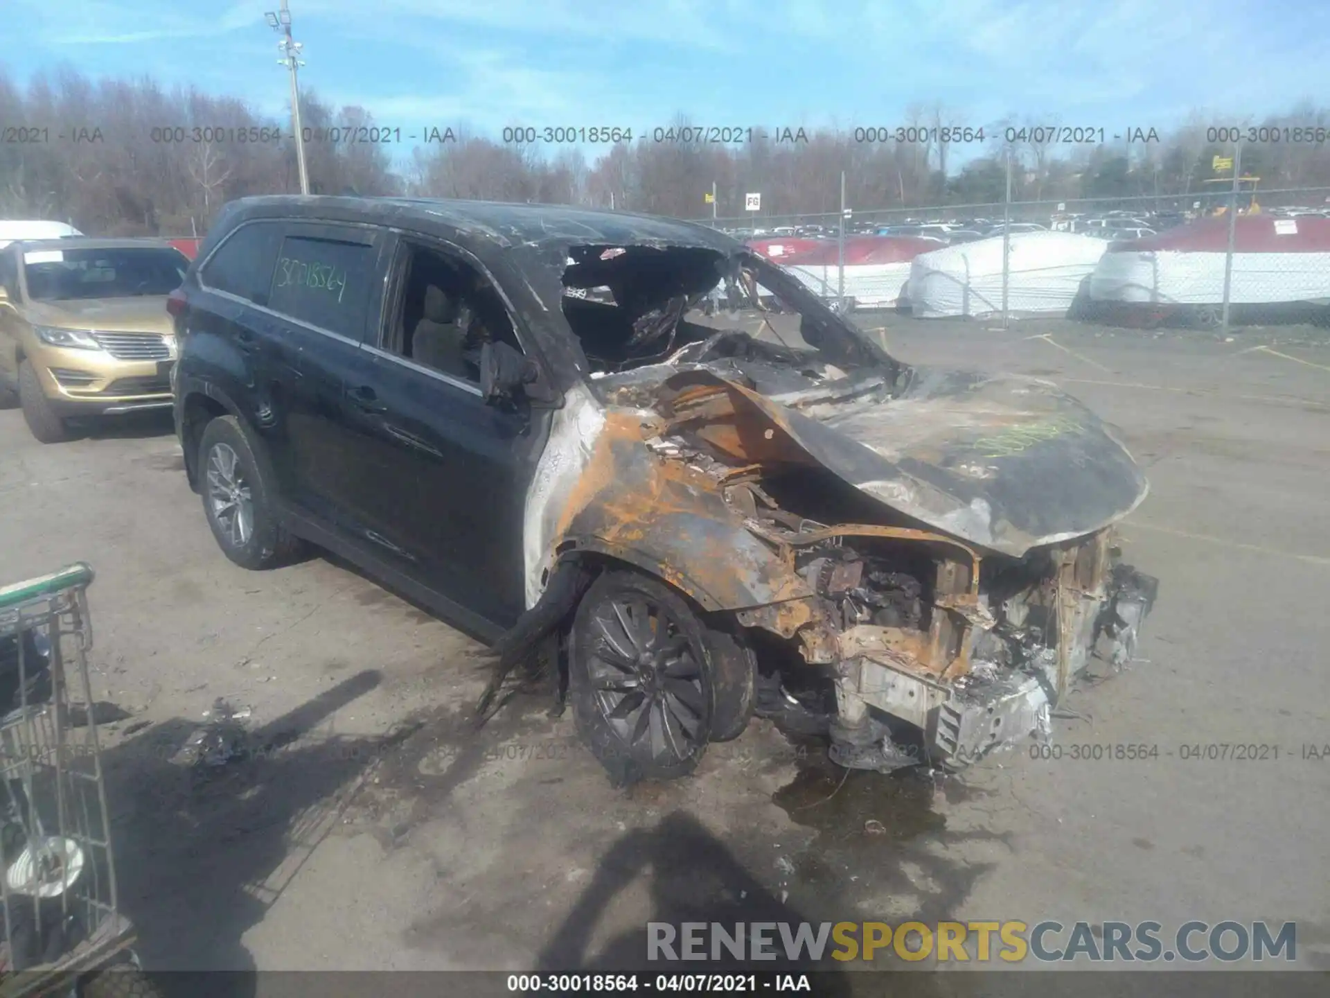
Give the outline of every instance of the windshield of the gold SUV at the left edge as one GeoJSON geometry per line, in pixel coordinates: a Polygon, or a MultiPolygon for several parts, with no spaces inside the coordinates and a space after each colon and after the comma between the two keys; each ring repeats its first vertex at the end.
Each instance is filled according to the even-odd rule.
{"type": "Polygon", "coordinates": [[[166,248],[24,253],[28,297],[39,302],[170,294],[188,269],[185,254],[166,248]]]}

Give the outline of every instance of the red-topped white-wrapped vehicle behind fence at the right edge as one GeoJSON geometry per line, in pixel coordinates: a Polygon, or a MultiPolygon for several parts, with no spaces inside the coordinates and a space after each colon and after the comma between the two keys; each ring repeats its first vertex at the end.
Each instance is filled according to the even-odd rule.
{"type": "MultiPolygon", "coordinates": [[[[1330,301],[1330,218],[1234,221],[1230,302],[1330,301]]],[[[1218,217],[1111,246],[1095,269],[1089,295],[1104,302],[1220,305],[1228,240],[1228,218],[1218,217]]]]}

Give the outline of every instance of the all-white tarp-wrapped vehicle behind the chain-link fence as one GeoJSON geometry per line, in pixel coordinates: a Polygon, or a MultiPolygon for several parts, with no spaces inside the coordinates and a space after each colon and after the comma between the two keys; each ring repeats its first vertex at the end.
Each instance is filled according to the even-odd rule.
{"type": "MultiPolygon", "coordinates": [[[[1009,311],[1067,314],[1108,244],[1092,236],[1032,232],[1009,237],[1009,311]]],[[[924,318],[990,315],[1003,306],[1003,237],[975,240],[914,258],[906,295],[924,318]]]]}

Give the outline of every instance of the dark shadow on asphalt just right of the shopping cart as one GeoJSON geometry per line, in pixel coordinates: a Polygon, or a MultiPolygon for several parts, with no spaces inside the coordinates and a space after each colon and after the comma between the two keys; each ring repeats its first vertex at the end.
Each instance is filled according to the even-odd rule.
{"type": "MultiPolygon", "coordinates": [[[[404,737],[339,737],[330,728],[335,711],[379,681],[360,672],[253,731],[213,724],[202,744],[197,721],[174,719],[104,753],[120,908],[146,969],[254,970],[245,931],[338,822],[359,780],[404,737]]],[[[255,982],[189,973],[165,974],[161,986],[241,995],[255,982]]]]}

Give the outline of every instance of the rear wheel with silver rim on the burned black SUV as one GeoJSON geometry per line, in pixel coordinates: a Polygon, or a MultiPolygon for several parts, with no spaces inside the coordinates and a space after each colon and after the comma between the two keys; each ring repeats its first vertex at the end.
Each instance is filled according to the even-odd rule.
{"type": "Polygon", "coordinates": [[[222,554],[253,571],[297,558],[301,542],[278,522],[269,463],[235,416],[203,427],[198,468],[203,515],[222,554]]]}

